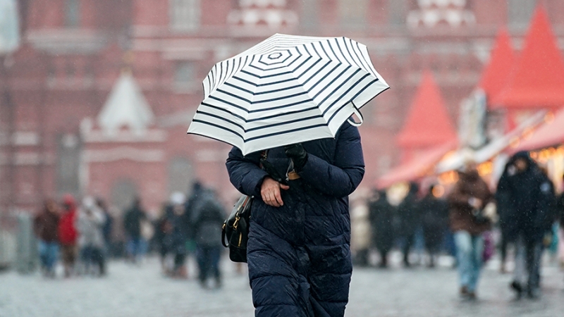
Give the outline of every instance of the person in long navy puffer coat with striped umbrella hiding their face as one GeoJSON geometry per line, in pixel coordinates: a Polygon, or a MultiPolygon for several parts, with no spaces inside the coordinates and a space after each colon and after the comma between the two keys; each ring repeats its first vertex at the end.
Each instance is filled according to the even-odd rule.
{"type": "Polygon", "coordinates": [[[344,316],[348,195],[364,175],[359,109],[389,88],[367,47],[276,34],[217,63],[203,84],[188,133],[233,145],[231,183],[255,197],[247,242],[255,316],[344,316]]]}

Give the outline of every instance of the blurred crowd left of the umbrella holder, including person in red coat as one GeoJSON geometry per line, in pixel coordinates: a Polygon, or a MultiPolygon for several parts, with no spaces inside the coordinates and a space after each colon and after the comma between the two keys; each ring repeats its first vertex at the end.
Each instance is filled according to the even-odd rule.
{"type": "Polygon", "coordinates": [[[158,218],[135,197],[125,210],[109,208],[103,199],[71,194],[47,199],[34,220],[42,274],[104,276],[108,259],[140,264],[147,252],[160,255],[165,276],[188,278],[187,256],[195,256],[202,287],[221,287],[221,225],[226,211],[214,190],[195,182],[190,197],[171,194],[158,218]]]}

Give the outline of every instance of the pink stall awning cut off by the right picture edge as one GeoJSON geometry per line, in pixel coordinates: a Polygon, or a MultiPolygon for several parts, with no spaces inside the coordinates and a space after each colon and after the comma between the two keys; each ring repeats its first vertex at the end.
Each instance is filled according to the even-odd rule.
{"type": "Polygon", "coordinates": [[[515,151],[531,151],[564,143],[564,108],[525,138],[515,151]]]}

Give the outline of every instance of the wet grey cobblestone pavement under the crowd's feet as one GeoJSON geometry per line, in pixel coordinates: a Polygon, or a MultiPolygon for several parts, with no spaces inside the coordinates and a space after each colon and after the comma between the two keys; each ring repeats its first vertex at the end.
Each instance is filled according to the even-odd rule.
{"type": "MultiPolygon", "coordinates": [[[[191,274],[194,276],[193,263],[191,274]]],[[[445,265],[430,270],[395,266],[388,270],[355,268],[346,316],[528,316],[564,315],[564,274],[555,266],[543,270],[539,300],[513,300],[510,275],[489,263],[479,285],[479,300],[458,298],[457,274],[445,265]]],[[[253,316],[245,274],[224,263],[220,290],[202,290],[192,278],[171,280],[159,272],[157,259],[141,266],[109,263],[106,278],[79,277],[47,280],[39,273],[0,274],[1,317],[111,317],[111,316],[253,316]]]]}

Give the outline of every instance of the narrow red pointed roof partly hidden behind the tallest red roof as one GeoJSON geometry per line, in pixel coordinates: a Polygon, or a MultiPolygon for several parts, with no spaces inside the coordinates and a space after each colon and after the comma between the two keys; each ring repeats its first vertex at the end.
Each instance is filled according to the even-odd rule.
{"type": "Polygon", "coordinates": [[[494,49],[491,50],[489,63],[484,68],[478,87],[484,89],[487,99],[495,97],[509,80],[509,75],[515,67],[515,52],[511,46],[511,38],[505,27],[501,28],[496,38],[494,49]]]}

